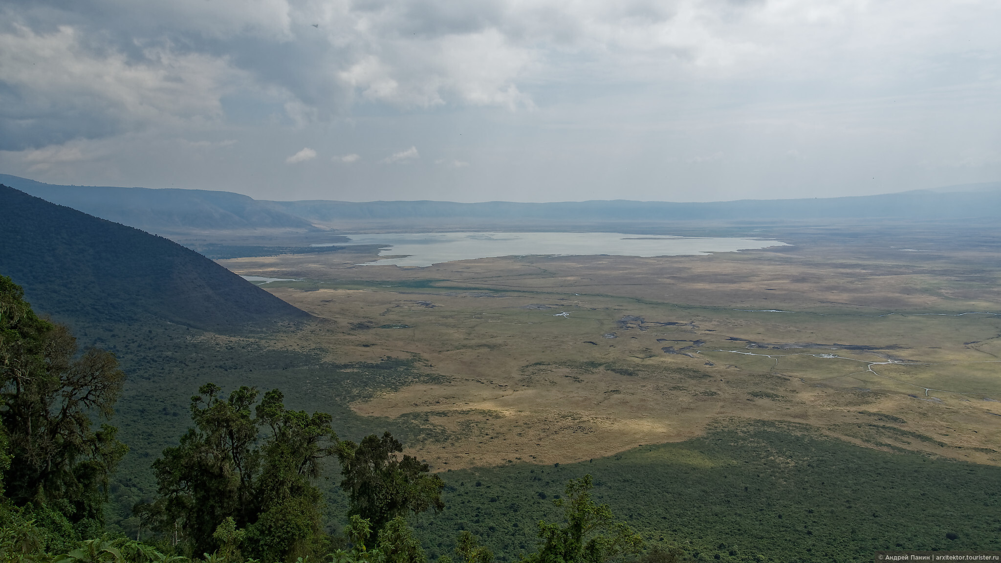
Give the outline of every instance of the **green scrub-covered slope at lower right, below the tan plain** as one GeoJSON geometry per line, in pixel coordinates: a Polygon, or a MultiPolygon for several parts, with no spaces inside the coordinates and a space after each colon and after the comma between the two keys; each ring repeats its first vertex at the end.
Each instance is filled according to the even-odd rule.
{"type": "Polygon", "coordinates": [[[585,474],[595,502],[650,549],[681,548],[681,559],[862,562],[883,549],[1001,550],[1001,468],[751,421],[593,462],[446,472],[445,510],[414,528],[431,559],[468,530],[498,561],[517,561],[536,550],[536,523],[562,520],[539,493],[562,495],[585,474]]]}

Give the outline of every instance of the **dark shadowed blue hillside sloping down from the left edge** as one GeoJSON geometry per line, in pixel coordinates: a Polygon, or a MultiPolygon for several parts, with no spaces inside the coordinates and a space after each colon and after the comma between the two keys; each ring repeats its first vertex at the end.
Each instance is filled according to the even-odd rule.
{"type": "Polygon", "coordinates": [[[58,320],[204,330],[308,315],[166,238],[0,184],[0,273],[58,320]]]}

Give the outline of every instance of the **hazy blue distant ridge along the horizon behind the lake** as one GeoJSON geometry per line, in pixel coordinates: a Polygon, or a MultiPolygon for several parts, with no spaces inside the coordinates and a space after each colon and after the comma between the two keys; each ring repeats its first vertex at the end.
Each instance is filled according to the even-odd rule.
{"type": "MultiPolygon", "coordinates": [[[[481,219],[531,221],[734,220],[820,218],[958,219],[1001,216],[1001,182],[879,195],[712,202],[591,200],[549,203],[486,201],[269,201],[228,191],[45,184],[0,174],[0,182],[85,212],[159,233],[287,228],[315,230],[337,221],[481,219]]],[[[457,224],[454,220],[452,224],[457,224]]]]}

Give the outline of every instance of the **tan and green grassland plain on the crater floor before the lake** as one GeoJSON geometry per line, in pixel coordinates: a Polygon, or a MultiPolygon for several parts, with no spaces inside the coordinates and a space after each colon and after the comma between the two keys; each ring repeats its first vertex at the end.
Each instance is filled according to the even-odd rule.
{"type": "Polygon", "coordinates": [[[357,361],[416,355],[446,378],[352,405],[450,433],[412,446],[439,469],[608,456],[724,416],[998,464],[996,236],[938,228],[762,228],[795,245],[713,256],[222,263],[308,279],[267,286],[330,321],[295,339],[357,361]],[[894,419],[859,429],[859,411],[894,419]]]}

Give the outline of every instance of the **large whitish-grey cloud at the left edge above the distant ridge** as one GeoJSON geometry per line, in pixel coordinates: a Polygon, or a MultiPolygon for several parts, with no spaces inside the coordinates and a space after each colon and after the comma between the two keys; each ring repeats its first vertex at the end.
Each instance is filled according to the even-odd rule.
{"type": "Polygon", "coordinates": [[[222,96],[253,89],[225,57],[94,48],[92,37],[65,25],[0,31],[0,148],[7,149],[218,123],[222,96]]]}

